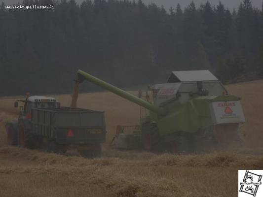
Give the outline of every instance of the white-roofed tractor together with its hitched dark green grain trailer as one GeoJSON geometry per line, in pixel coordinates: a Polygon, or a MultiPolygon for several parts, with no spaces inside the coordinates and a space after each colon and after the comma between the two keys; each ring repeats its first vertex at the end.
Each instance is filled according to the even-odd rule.
{"type": "Polygon", "coordinates": [[[74,148],[83,157],[101,155],[106,126],[103,111],[60,107],[56,99],[33,96],[20,106],[17,121],[6,127],[8,144],[47,152],[65,153],[74,148]]]}

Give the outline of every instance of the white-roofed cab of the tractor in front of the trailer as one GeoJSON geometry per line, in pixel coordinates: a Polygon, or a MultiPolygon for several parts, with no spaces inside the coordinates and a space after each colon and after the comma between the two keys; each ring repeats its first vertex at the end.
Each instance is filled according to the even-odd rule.
{"type": "Polygon", "coordinates": [[[32,108],[57,108],[60,107],[60,103],[52,97],[43,96],[27,96],[25,100],[16,100],[15,107],[18,107],[18,102],[23,102],[24,106],[20,106],[20,114],[27,116],[31,114],[32,108]]]}

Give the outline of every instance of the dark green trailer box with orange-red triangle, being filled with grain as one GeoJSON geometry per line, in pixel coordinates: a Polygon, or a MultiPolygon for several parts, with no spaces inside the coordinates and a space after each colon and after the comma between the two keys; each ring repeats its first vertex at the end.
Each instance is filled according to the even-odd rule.
{"type": "Polygon", "coordinates": [[[58,144],[105,142],[103,111],[80,108],[32,109],[32,133],[54,139],[58,144]]]}

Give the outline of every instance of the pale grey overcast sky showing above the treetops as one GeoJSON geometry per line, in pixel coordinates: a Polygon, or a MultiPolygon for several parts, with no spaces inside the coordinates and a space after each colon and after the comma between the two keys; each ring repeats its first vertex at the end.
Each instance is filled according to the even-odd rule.
{"type": "MultiPolygon", "coordinates": [[[[13,4],[18,2],[19,0],[0,0],[4,1],[5,4],[13,4]]],[[[78,3],[82,2],[83,0],[76,0],[78,3]]],[[[180,3],[180,5],[185,8],[192,0],[142,0],[145,3],[155,3],[159,6],[164,5],[167,10],[172,6],[176,7],[177,3],[180,3]]],[[[207,0],[193,0],[194,3],[199,6],[201,3],[205,3],[207,0]]],[[[219,0],[209,0],[212,4],[217,5],[219,3],[219,0]]],[[[253,6],[261,8],[263,0],[252,0],[253,6]]],[[[241,2],[241,0],[221,0],[221,2],[230,10],[233,8],[237,8],[241,2]]]]}

